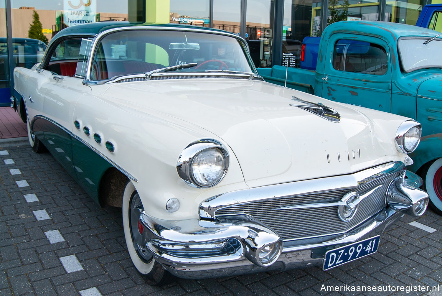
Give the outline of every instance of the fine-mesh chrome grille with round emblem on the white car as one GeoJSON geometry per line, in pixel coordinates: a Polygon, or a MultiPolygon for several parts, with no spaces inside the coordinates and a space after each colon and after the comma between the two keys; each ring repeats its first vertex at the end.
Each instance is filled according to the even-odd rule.
{"type": "Polygon", "coordinates": [[[267,224],[276,231],[283,240],[345,233],[385,208],[385,196],[388,186],[399,174],[400,172],[391,173],[354,188],[313,192],[271,200],[259,200],[248,204],[232,205],[218,209],[215,212],[215,216],[246,213],[267,224]],[[354,218],[349,222],[343,222],[339,219],[338,207],[336,206],[305,209],[275,209],[307,202],[339,201],[348,192],[356,191],[362,195],[378,185],[382,185],[381,188],[359,203],[354,218]]]}

